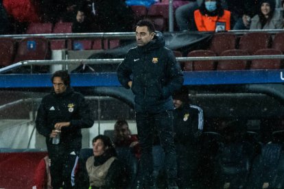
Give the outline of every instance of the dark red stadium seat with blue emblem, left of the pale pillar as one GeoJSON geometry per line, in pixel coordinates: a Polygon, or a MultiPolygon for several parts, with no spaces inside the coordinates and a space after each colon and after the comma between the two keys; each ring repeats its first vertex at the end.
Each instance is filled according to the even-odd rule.
{"type": "MultiPolygon", "coordinates": [[[[46,38],[23,38],[19,42],[18,51],[14,62],[23,60],[48,60],[50,58],[49,40],[46,38]]],[[[38,73],[47,73],[48,66],[34,66],[34,71],[38,73]]],[[[16,69],[18,73],[30,73],[29,68],[20,70],[16,69]]]]}

